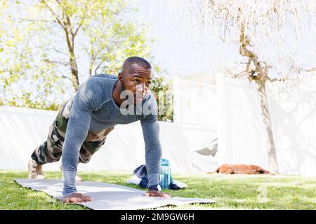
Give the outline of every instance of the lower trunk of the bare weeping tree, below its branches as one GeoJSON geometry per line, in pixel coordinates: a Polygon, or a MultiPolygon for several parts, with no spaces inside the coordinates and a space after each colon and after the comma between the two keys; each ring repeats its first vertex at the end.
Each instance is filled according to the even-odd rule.
{"type": "Polygon", "coordinates": [[[258,90],[258,95],[260,99],[261,116],[263,119],[263,125],[265,126],[265,136],[268,137],[268,139],[266,139],[266,142],[267,142],[267,149],[268,149],[269,171],[272,173],[277,173],[279,172],[278,167],[277,167],[277,153],[275,151],[275,140],[273,138],[273,133],[272,133],[270,112],[268,108],[268,99],[267,99],[267,94],[265,92],[265,82],[261,80],[256,80],[256,88],[258,90]]]}

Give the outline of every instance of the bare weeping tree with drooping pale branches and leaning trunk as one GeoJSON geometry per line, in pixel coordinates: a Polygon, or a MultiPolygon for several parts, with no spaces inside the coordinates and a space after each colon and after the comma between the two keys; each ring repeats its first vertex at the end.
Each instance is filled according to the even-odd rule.
{"type": "MultiPolygon", "coordinates": [[[[308,27],[304,21],[306,18],[315,18],[315,1],[294,1],[294,0],[274,0],[274,1],[230,1],[230,0],[205,0],[202,1],[203,10],[202,15],[204,25],[206,20],[212,24],[213,27],[220,27],[224,25],[223,30],[229,31],[235,36],[239,36],[239,54],[246,58],[245,69],[233,78],[248,78],[250,81],[256,82],[259,99],[261,102],[261,111],[263,123],[265,126],[265,134],[267,139],[268,163],[271,172],[278,172],[277,156],[275,151],[275,143],[272,133],[272,125],[270,121],[270,112],[268,109],[268,101],[265,92],[266,81],[284,80],[297,76],[297,71],[315,71],[314,67],[304,68],[298,64],[294,57],[289,55],[279,54],[277,57],[277,50],[284,48],[284,39],[287,38],[288,33],[296,37],[296,43],[300,44],[303,37],[304,29],[315,29],[315,27],[308,27]],[[276,36],[272,36],[277,34],[276,36]],[[256,48],[251,42],[256,43],[256,48]],[[277,46],[279,45],[279,46],[277,46]],[[254,48],[254,49],[251,49],[254,48]],[[265,49],[275,50],[274,54],[264,57],[265,49]],[[255,52],[257,51],[257,52],[255,52]],[[259,56],[260,55],[260,56],[259,56]],[[274,58],[271,58],[272,57],[274,58]],[[287,56],[287,57],[284,57],[287,56]],[[272,62],[274,59],[274,62],[272,62]],[[278,61],[275,63],[275,61],[278,61]],[[280,66],[287,64],[289,69],[281,71],[280,66]],[[289,66],[289,64],[291,66],[289,66]],[[274,76],[271,76],[269,71],[275,70],[274,76]]],[[[225,42],[225,37],[223,38],[225,42]]],[[[304,44],[301,43],[301,44],[304,44]]],[[[267,54],[268,55],[268,54],[267,54]]],[[[232,73],[235,73],[232,71],[232,73]]]]}

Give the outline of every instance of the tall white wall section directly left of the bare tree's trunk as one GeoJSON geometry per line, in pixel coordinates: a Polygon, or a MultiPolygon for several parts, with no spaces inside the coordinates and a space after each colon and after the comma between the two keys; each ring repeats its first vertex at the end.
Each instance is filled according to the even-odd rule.
{"type": "Polygon", "coordinates": [[[218,164],[268,169],[265,136],[254,83],[218,76],[218,164]]]}

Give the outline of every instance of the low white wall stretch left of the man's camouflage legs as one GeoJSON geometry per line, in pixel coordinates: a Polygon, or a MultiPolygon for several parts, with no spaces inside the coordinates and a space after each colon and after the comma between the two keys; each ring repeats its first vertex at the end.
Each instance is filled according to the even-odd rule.
{"type": "MultiPolygon", "coordinates": [[[[47,138],[55,111],[0,106],[0,169],[27,170],[27,162],[47,138]]],[[[57,165],[50,165],[50,168],[57,165]]]]}

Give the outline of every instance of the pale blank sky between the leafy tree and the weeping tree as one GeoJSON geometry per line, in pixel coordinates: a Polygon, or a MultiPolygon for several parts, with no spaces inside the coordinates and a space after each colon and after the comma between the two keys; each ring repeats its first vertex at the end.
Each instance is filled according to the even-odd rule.
{"type": "Polygon", "coordinates": [[[194,15],[188,15],[185,7],[175,6],[168,0],[138,0],[136,18],[150,25],[148,34],[157,38],[152,46],[155,60],[169,71],[171,76],[209,71],[212,62],[203,57],[205,45],[198,43],[197,30],[192,27],[194,15]],[[190,29],[190,30],[189,30],[190,29]]]}

